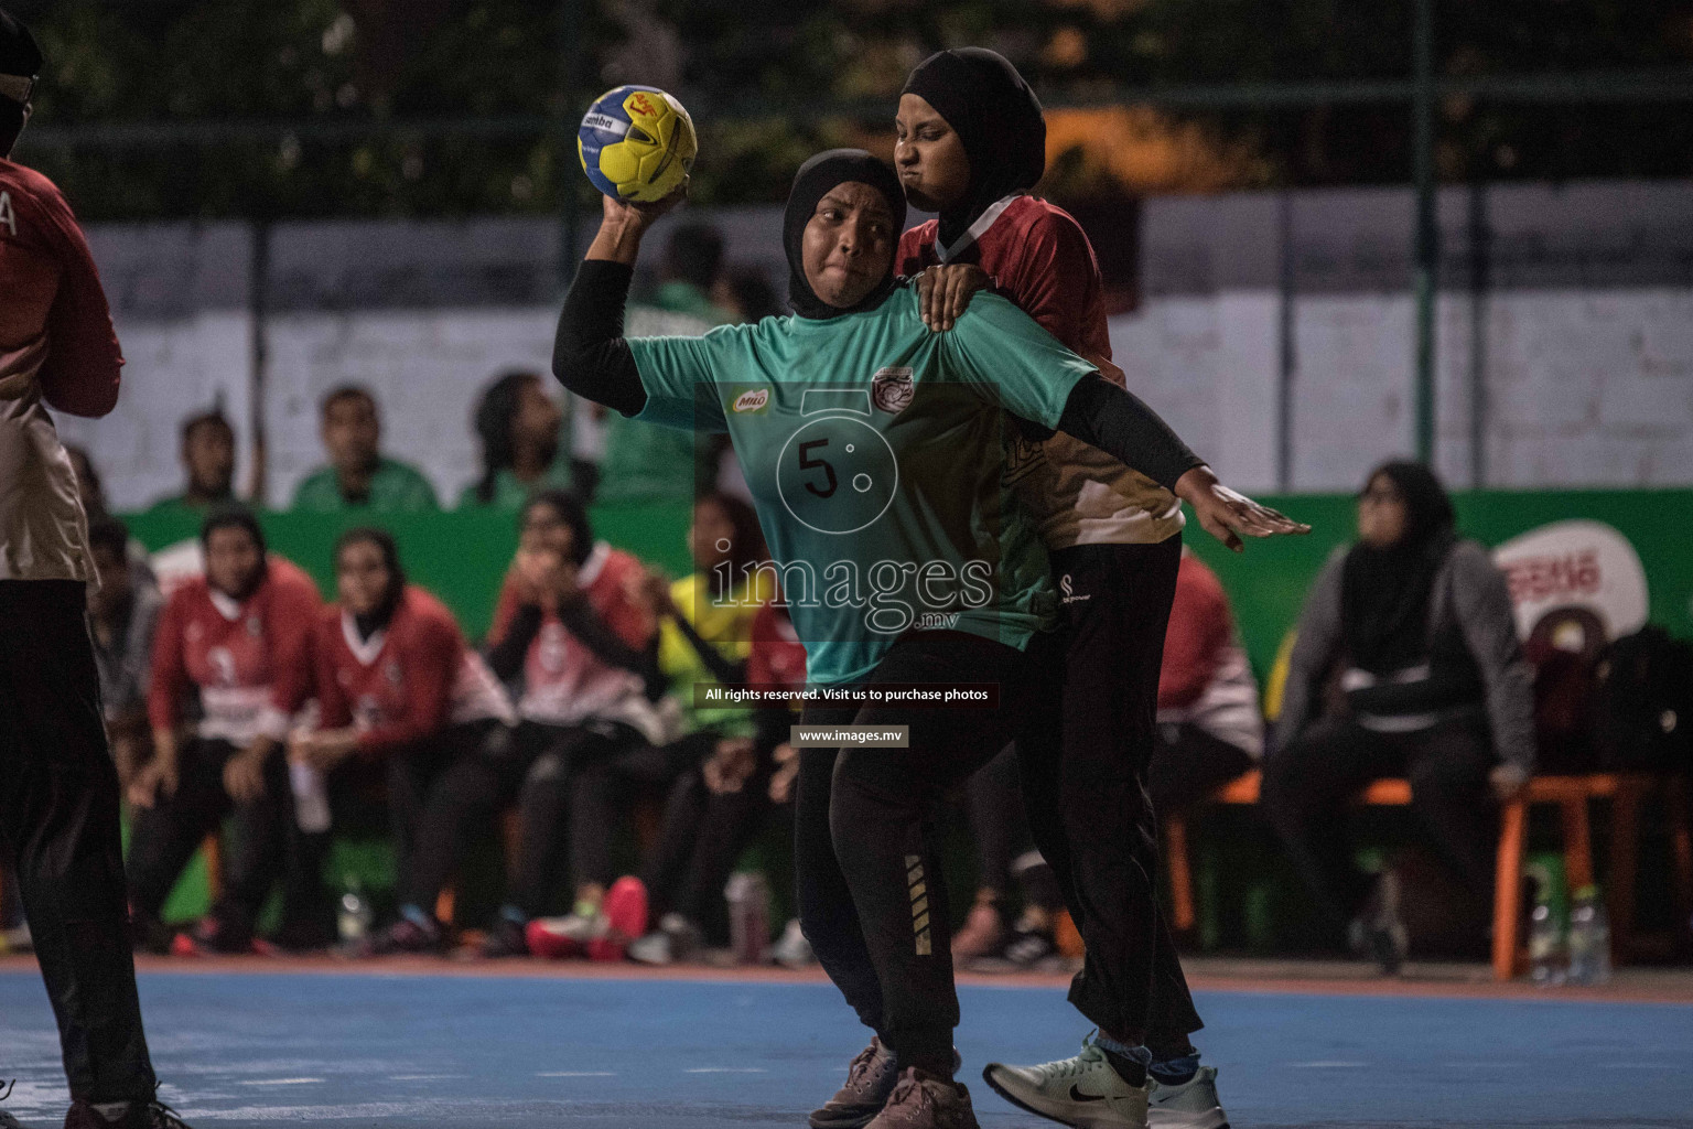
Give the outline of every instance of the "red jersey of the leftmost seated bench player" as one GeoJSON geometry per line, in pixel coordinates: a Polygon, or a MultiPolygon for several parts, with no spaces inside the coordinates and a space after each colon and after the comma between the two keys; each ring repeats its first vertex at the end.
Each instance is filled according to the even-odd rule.
{"type": "Polygon", "coordinates": [[[164,606],[152,643],[152,728],[176,728],[196,689],[200,736],[234,745],[256,736],[284,740],[290,718],[312,696],[320,603],[305,572],[276,559],[245,601],[215,591],[205,577],[183,584],[164,606]]]}

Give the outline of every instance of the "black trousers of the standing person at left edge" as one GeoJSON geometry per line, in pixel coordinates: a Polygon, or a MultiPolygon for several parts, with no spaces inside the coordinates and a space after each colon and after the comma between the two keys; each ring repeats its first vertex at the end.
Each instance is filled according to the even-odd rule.
{"type": "Polygon", "coordinates": [[[83,584],[0,581],[0,858],[17,870],[71,1097],[152,1097],[117,768],[83,584]]]}

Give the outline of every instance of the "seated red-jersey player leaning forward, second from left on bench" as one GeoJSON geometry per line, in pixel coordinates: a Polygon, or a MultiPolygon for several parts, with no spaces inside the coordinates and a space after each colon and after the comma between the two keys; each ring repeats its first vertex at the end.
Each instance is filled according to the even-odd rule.
{"type": "Polygon", "coordinates": [[[325,804],[306,828],[322,831],[332,811],[339,823],[342,809],[367,792],[359,784],[386,777],[401,912],[366,951],[433,951],[445,936],[430,912],[438,889],[416,890],[425,812],[449,770],[481,757],[489,736],[516,714],[447,606],[406,582],[388,531],[342,533],[335,591],[340,603],[318,616],[313,643],[318,728],[290,741],[291,772],[305,777],[295,790],[315,784],[313,775],[327,779],[325,804]]]}

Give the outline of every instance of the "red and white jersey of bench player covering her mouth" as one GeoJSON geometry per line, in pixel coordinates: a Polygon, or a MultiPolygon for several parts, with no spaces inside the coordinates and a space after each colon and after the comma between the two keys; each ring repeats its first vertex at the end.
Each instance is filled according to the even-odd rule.
{"type": "MultiPolygon", "coordinates": [[[[655,631],[652,616],[630,598],[631,584],[643,572],[635,557],[604,542],[594,545],[577,570],[577,584],[587,596],[589,608],[625,645],[637,650],[645,648],[655,631]]],[[[516,584],[508,577],[494,608],[489,643],[505,638],[520,604],[516,584]]],[[[665,736],[664,724],[647,699],[643,679],[603,660],[552,613],[542,618],[540,631],[525,652],[518,714],[547,724],[603,718],[631,724],[652,741],[665,736]]]]}

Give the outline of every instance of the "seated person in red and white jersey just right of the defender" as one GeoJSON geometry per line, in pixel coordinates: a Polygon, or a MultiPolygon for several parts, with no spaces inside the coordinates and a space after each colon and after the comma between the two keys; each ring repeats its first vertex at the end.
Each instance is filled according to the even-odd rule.
{"type": "Polygon", "coordinates": [[[1234,635],[1217,574],[1182,552],[1158,672],[1153,811],[1182,811],[1249,772],[1265,752],[1258,680],[1234,635]]]}

